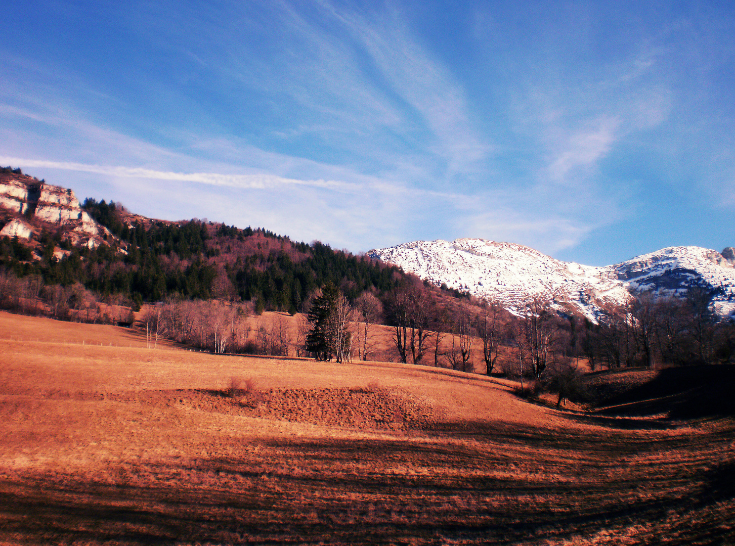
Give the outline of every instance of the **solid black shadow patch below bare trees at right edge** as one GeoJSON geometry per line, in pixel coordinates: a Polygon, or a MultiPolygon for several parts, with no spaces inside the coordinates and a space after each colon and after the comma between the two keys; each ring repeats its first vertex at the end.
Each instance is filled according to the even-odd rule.
{"type": "Polygon", "coordinates": [[[735,365],[672,367],[650,381],[600,400],[595,412],[609,416],[665,414],[670,419],[735,415],[735,365]]]}

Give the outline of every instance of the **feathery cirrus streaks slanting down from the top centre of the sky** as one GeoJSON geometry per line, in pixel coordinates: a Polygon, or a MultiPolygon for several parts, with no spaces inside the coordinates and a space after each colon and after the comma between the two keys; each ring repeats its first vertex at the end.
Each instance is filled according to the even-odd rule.
{"type": "Polygon", "coordinates": [[[206,34],[221,37],[230,54],[223,59],[221,44],[205,44],[196,56],[246,89],[279,97],[276,115],[290,120],[282,128],[283,120],[273,121],[276,145],[325,143],[338,161],[348,157],[373,173],[422,184],[476,175],[492,146],[474,126],[461,82],[422,45],[404,14],[376,6],[322,1],[303,10],[276,2],[256,10],[279,21],[272,30],[284,44],[262,56],[238,40],[237,18],[214,18],[206,34]]]}

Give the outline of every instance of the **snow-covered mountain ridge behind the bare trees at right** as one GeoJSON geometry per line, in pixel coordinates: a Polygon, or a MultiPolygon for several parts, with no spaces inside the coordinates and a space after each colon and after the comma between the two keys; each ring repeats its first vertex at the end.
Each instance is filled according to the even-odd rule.
{"type": "Polygon", "coordinates": [[[720,315],[735,312],[735,253],[696,246],[670,247],[616,265],[561,262],[523,245],[484,239],[415,241],[368,252],[434,284],[492,298],[512,311],[540,296],[557,309],[594,319],[600,309],[625,303],[631,292],[684,295],[700,285],[716,292],[720,315]]]}

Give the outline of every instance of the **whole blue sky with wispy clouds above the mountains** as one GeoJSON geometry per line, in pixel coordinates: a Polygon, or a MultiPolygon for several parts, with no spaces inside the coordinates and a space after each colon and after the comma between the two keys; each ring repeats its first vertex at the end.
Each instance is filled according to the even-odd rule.
{"type": "Polygon", "coordinates": [[[0,0],[0,163],[155,218],[735,245],[728,1],[0,0]]]}

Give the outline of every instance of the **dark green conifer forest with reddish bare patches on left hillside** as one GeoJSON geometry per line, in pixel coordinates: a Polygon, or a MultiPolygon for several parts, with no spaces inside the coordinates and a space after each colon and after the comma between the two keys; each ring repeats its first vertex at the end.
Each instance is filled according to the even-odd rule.
{"type": "Polygon", "coordinates": [[[365,290],[387,292],[404,282],[397,267],[337,251],[318,241],[294,243],[266,229],[238,229],[201,220],[124,221],[114,202],[87,198],[83,208],[118,240],[98,248],[71,248],[61,234],[44,233],[43,256],[18,240],[0,242],[0,266],[43,284],[81,283],[100,295],[124,295],[134,304],[178,299],[242,299],[259,309],[297,312],[328,281],[354,299],[365,290]],[[54,258],[54,247],[68,251],[54,258]]]}

